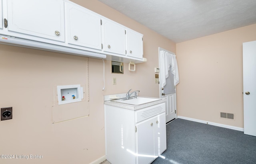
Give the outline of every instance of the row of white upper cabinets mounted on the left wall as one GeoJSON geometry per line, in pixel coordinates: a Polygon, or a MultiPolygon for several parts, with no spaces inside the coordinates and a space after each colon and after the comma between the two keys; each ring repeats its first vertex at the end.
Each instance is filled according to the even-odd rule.
{"type": "Polygon", "coordinates": [[[143,35],[69,0],[0,0],[0,44],[145,62],[143,35]]]}

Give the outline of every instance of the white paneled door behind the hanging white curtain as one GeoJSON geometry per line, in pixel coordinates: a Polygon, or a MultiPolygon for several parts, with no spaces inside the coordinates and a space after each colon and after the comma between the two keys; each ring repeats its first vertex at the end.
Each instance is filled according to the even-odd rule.
{"type": "MultiPolygon", "coordinates": [[[[167,51],[162,48],[159,48],[159,55],[160,51],[167,51]]],[[[170,51],[167,51],[171,54],[174,54],[170,51]]],[[[163,64],[164,61],[161,59],[159,56],[159,67],[160,64],[163,64]]],[[[161,71],[161,69],[160,69],[161,71]]],[[[166,85],[164,88],[161,88],[160,85],[160,98],[166,99],[166,123],[169,121],[173,120],[176,118],[176,89],[174,88],[174,75],[171,73],[171,68],[170,71],[168,72],[169,76],[166,78],[166,85]]],[[[159,74],[161,76],[161,74],[159,74]]],[[[161,77],[159,78],[159,82],[161,84],[161,77]]]]}

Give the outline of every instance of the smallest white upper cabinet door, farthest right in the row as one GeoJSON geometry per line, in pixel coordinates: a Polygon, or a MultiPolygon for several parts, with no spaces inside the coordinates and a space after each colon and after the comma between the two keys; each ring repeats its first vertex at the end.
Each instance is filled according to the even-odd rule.
{"type": "Polygon", "coordinates": [[[126,46],[127,56],[142,59],[143,58],[143,35],[127,29],[126,30],[126,46]]]}

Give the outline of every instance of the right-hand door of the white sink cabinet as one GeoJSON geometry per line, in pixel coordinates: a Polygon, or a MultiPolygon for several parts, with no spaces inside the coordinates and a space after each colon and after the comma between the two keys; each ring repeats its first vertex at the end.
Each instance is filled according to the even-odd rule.
{"type": "Polygon", "coordinates": [[[154,144],[155,156],[159,156],[166,150],[165,113],[154,117],[154,144]]]}

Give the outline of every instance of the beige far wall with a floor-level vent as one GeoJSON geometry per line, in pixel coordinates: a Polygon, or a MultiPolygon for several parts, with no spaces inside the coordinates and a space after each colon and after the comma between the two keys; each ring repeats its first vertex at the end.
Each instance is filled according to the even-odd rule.
{"type": "Polygon", "coordinates": [[[176,44],[178,115],[243,128],[242,43],[256,24],[176,44]],[[234,113],[235,120],[221,119],[234,113]]]}

